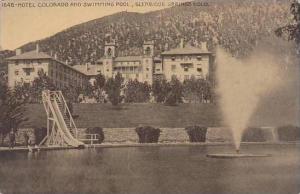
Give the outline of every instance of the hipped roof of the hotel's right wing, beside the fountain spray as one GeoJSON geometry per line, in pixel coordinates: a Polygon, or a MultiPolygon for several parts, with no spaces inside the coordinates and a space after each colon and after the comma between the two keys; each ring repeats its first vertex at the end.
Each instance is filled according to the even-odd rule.
{"type": "Polygon", "coordinates": [[[196,54],[210,54],[207,49],[200,49],[197,47],[186,46],[183,48],[175,48],[161,53],[161,55],[196,55],[196,54]]]}

